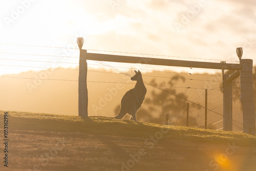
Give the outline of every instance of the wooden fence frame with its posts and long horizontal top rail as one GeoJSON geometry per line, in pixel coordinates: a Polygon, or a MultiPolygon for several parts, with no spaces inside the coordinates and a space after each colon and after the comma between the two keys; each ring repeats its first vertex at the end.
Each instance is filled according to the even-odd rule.
{"type": "MultiPolygon", "coordinates": [[[[240,63],[216,63],[188,60],[174,60],[161,58],[148,58],[136,56],[122,56],[99,53],[87,53],[82,50],[83,39],[77,39],[80,49],[79,58],[79,116],[88,116],[88,90],[87,90],[87,60],[98,60],[108,62],[124,62],[124,63],[142,63],[147,65],[173,66],[173,67],[190,67],[220,70],[237,70],[231,75],[225,75],[224,95],[223,95],[223,129],[224,131],[232,131],[232,80],[241,77],[241,103],[243,108],[243,131],[247,134],[255,135],[255,106],[253,101],[253,84],[252,84],[252,60],[241,59],[242,53],[239,55],[240,63]],[[82,43],[81,43],[82,42],[82,43]],[[241,71],[240,71],[241,70],[241,71]]],[[[242,50],[242,48],[238,48],[242,50]]],[[[224,75],[223,75],[224,76],[224,75]]],[[[206,90],[207,94],[207,90],[206,90]]],[[[206,103],[207,105],[207,103],[206,103]]],[[[207,127],[207,107],[205,109],[205,127],[207,127]]]]}

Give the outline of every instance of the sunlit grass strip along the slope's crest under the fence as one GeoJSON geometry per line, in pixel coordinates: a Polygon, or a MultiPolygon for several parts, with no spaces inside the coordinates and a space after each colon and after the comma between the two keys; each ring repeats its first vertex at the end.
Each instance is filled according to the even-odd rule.
{"type": "MultiPolygon", "coordinates": [[[[3,121],[3,116],[4,112],[1,111],[1,122],[3,121]]],[[[241,132],[204,130],[194,127],[160,125],[107,117],[80,118],[78,116],[9,112],[9,130],[78,132],[91,135],[148,138],[160,133],[161,129],[168,130],[168,133],[162,134],[163,139],[166,140],[212,144],[235,142],[236,145],[240,146],[256,147],[256,136],[241,132]]]]}

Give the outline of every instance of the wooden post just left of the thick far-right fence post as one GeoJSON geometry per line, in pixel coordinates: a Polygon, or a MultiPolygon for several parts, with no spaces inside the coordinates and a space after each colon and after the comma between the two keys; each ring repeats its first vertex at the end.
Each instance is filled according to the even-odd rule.
{"type": "Polygon", "coordinates": [[[224,75],[223,91],[223,131],[232,131],[232,81],[227,81],[229,75],[224,75]]]}

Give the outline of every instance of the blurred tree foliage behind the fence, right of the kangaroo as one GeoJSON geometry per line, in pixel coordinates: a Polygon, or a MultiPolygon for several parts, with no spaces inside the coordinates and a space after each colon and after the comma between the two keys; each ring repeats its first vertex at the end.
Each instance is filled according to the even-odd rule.
{"type": "MultiPolygon", "coordinates": [[[[153,90],[150,93],[151,96],[146,98],[142,104],[141,109],[137,112],[137,119],[139,121],[151,122],[163,124],[166,123],[165,114],[169,114],[169,123],[173,125],[186,125],[186,106],[187,101],[182,98],[187,98],[184,93],[177,93],[174,88],[175,83],[177,81],[185,82],[185,78],[183,76],[175,75],[173,78],[163,81],[160,83],[161,86],[166,86],[165,91],[161,90],[153,90]],[[174,96],[172,94],[176,94],[174,96]],[[182,97],[182,98],[179,98],[182,97]]],[[[156,83],[155,79],[151,81],[151,84],[159,84],[156,83]]],[[[191,105],[191,108],[198,108],[198,106],[191,105]]],[[[115,113],[118,113],[120,110],[120,106],[117,106],[115,109],[115,113]]],[[[129,117],[125,118],[129,119],[129,117]]],[[[196,116],[189,116],[189,126],[197,126],[196,116]]]]}

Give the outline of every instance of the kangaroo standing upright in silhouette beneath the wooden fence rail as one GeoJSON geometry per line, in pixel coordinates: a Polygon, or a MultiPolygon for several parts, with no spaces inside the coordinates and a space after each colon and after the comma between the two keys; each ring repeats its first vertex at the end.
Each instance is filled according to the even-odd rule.
{"type": "Polygon", "coordinates": [[[122,119],[126,113],[131,115],[134,121],[137,122],[136,113],[140,109],[140,106],[145,99],[146,88],[142,80],[142,74],[138,70],[135,71],[135,75],[131,78],[132,81],[137,81],[133,89],[127,91],[122,100],[119,114],[115,117],[116,119],[122,119]]]}

